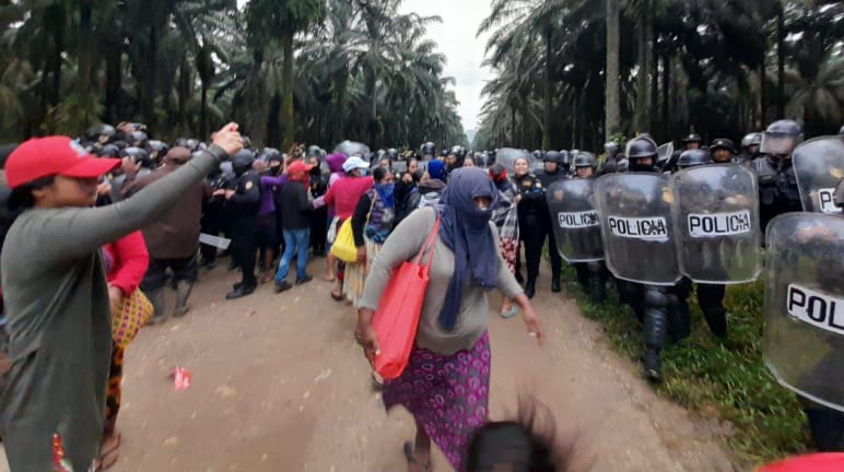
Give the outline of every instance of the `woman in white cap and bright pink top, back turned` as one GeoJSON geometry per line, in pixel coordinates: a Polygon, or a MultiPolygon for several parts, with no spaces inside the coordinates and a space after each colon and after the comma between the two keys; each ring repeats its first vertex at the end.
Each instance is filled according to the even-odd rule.
{"type": "MultiPolygon", "coordinates": [[[[357,156],[349,157],[343,163],[345,176],[337,179],[325,194],[324,201],[329,208],[333,208],[337,215],[333,231],[337,232],[345,220],[352,217],[361,196],[372,189],[372,177],[366,177],[370,165],[357,156]]],[[[337,262],[337,282],[331,291],[331,298],[343,300],[343,276],[345,264],[337,262]]]]}

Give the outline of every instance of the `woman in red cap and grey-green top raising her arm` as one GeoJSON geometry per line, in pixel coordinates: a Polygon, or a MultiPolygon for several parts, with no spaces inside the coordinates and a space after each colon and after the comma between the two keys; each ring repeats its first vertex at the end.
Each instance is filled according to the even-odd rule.
{"type": "Polygon", "coordinates": [[[226,125],[178,170],[101,208],[91,208],[97,184],[119,161],[66,137],[32,139],[9,156],[17,215],[0,259],[12,362],[0,430],[11,470],[98,468],[112,357],[101,248],[155,221],[241,148],[237,126],[226,125]]]}

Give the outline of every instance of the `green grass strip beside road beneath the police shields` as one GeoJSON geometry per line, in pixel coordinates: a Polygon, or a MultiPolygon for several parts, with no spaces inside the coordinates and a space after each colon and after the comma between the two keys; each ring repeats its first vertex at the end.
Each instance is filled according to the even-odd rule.
{"type": "MultiPolygon", "coordinates": [[[[632,359],[643,353],[642,327],[618,296],[596,306],[579,288],[574,271],[564,272],[568,292],[581,311],[597,320],[612,347],[632,359]]],[[[655,390],[691,412],[732,425],[724,440],[741,465],[750,467],[804,452],[810,444],[806,417],[797,397],[782,388],[762,362],[764,283],[727,288],[729,337],[710,334],[692,296],[692,335],[663,352],[664,381],[655,390]]]]}

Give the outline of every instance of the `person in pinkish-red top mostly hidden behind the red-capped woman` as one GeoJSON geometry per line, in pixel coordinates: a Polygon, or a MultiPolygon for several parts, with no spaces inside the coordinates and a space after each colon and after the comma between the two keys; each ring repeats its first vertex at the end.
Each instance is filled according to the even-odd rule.
{"type": "MultiPolygon", "coordinates": [[[[183,148],[184,149],[184,148],[183,148]]],[[[150,262],[146,244],[141,232],[128,235],[103,246],[108,299],[112,316],[119,316],[125,297],[132,295],[143,281],[150,262]]],[[[117,413],[120,411],[124,381],[124,353],[116,342],[112,342],[112,364],[108,367],[108,392],[106,393],[105,427],[99,447],[99,467],[105,470],[117,462],[122,437],[117,430],[117,413]]]]}

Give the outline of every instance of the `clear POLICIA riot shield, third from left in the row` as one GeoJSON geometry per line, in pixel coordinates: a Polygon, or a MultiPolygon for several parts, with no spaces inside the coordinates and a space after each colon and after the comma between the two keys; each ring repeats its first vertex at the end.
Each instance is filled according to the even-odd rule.
{"type": "Polygon", "coordinates": [[[694,282],[751,282],[762,270],[759,193],[738,164],[690,167],[670,178],[677,259],[694,282]]]}

